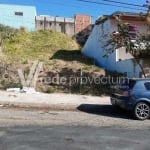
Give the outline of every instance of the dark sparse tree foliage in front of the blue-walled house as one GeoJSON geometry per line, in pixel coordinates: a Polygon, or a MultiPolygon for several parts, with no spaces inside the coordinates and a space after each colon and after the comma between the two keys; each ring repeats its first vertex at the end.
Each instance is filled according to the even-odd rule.
{"type": "MultiPolygon", "coordinates": [[[[143,20],[143,18],[142,18],[143,20]]],[[[141,21],[142,21],[141,20],[141,21]]],[[[107,41],[105,48],[107,49],[106,55],[109,55],[115,49],[125,47],[126,52],[131,53],[134,57],[137,57],[143,50],[150,51],[150,13],[145,15],[144,20],[148,26],[148,32],[146,34],[136,31],[136,37],[132,39],[130,28],[133,26],[130,23],[123,23],[118,19],[118,30],[110,34],[110,39],[107,41]]]]}

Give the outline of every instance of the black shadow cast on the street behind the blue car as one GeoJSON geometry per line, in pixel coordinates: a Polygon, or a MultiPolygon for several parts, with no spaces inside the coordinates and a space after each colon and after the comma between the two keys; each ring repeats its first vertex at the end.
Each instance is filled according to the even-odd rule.
{"type": "Polygon", "coordinates": [[[112,105],[82,104],[77,109],[90,114],[113,118],[132,119],[131,112],[127,112],[120,108],[114,108],[112,105]]]}

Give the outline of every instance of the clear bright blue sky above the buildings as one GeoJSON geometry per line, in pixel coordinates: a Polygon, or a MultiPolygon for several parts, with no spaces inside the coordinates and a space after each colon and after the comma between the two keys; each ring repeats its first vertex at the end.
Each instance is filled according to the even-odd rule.
{"type": "MultiPolygon", "coordinates": [[[[78,0],[0,0],[0,4],[32,5],[36,7],[37,15],[73,17],[75,14],[88,14],[93,17],[93,21],[95,21],[96,18],[98,18],[101,15],[112,14],[115,11],[144,12],[143,10],[137,9],[145,9],[135,6],[106,2],[105,0],[87,0],[87,1],[105,3],[115,6],[87,3],[78,0]],[[122,7],[116,7],[116,5],[122,7]],[[133,9],[125,7],[132,7],[133,9]]],[[[112,0],[112,1],[132,3],[135,5],[146,4],[145,2],[146,0],[112,0]]]]}

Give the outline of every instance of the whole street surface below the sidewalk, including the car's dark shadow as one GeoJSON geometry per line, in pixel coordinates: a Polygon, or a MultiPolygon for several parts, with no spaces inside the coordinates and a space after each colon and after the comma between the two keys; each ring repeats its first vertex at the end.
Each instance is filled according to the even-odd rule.
{"type": "Polygon", "coordinates": [[[150,149],[150,120],[133,120],[109,105],[79,109],[0,109],[0,150],[150,149]]]}

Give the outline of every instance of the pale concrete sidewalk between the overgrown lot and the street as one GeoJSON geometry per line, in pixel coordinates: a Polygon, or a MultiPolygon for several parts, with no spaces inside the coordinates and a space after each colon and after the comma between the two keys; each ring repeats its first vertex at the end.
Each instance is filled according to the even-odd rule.
{"type": "Polygon", "coordinates": [[[44,94],[44,93],[14,93],[0,91],[1,107],[48,108],[52,110],[75,110],[82,104],[109,105],[109,97],[74,95],[74,94],[44,94]]]}

